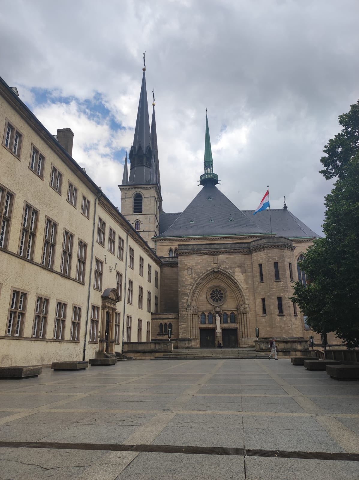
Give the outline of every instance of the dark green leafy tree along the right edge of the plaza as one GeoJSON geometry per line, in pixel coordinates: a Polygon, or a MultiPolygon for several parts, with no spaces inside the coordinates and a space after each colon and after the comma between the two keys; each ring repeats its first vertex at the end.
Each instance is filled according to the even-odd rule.
{"type": "Polygon", "coordinates": [[[328,162],[321,172],[326,178],[338,177],[325,197],[325,238],[315,240],[306,252],[301,269],[309,282],[307,288],[297,282],[291,300],[315,332],[335,332],[348,348],[355,348],[359,347],[359,102],[339,120],[345,128],[326,145],[328,157],[323,158],[328,162]]]}

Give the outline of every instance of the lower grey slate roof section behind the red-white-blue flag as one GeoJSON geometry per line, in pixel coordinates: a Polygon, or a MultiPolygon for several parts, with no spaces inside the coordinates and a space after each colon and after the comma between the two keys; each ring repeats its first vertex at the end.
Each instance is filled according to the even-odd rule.
{"type": "MultiPolygon", "coordinates": [[[[242,212],[251,218],[257,227],[270,232],[269,210],[258,212],[253,215],[254,210],[242,210],[242,212]]],[[[313,232],[303,222],[293,215],[287,208],[271,209],[272,230],[278,236],[287,238],[321,238],[320,235],[313,232]]]]}

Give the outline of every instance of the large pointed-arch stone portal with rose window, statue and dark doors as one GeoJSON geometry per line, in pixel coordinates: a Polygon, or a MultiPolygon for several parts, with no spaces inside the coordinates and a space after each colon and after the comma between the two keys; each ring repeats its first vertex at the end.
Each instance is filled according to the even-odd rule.
{"type": "Polygon", "coordinates": [[[187,322],[184,322],[192,347],[246,345],[250,337],[249,306],[238,280],[226,271],[213,268],[191,287],[187,300],[187,322]],[[208,319],[203,323],[204,319],[208,319]]]}

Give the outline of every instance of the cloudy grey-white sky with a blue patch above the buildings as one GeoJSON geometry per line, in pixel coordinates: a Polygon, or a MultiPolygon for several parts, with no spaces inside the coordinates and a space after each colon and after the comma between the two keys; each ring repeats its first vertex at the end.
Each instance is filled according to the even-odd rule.
{"type": "Polygon", "coordinates": [[[319,173],[338,115],[359,98],[358,0],[12,0],[0,14],[0,75],[120,207],[146,51],[155,89],[163,209],[180,212],[203,173],[206,108],[218,188],[288,209],[321,234],[319,173]],[[14,17],[13,12],[16,12],[14,17]]]}

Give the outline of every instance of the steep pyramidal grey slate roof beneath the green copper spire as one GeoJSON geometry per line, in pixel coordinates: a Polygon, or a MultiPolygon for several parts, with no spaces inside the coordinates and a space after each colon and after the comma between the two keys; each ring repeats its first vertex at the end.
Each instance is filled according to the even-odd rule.
{"type": "Polygon", "coordinates": [[[244,215],[213,183],[207,183],[181,214],[160,216],[159,237],[260,235],[266,232],[244,215]],[[173,223],[165,230],[173,215],[173,223]],[[178,216],[177,216],[178,215],[178,216]],[[177,216],[177,217],[176,217],[177,216]]]}

